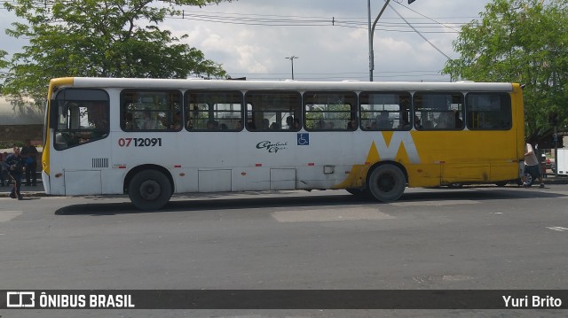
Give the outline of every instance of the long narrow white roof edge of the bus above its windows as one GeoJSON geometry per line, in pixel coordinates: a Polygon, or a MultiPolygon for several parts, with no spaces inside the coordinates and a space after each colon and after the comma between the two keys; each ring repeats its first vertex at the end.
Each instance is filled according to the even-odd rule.
{"type": "Polygon", "coordinates": [[[146,89],[235,89],[235,90],[354,90],[354,91],[513,91],[508,82],[411,82],[411,81],[230,81],[201,79],[143,79],[72,77],[51,80],[52,87],[146,88],[146,89]]]}

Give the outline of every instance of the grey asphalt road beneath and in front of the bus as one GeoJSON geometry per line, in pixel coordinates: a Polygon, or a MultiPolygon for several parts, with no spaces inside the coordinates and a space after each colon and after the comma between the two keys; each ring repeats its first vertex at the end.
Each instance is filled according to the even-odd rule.
{"type": "MultiPolygon", "coordinates": [[[[343,190],[199,194],[177,196],[160,212],[139,212],[126,197],[0,198],[0,289],[567,289],[567,205],[568,185],[556,184],[411,189],[391,204],[343,190]]],[[[0,317],[509,314],[559,312],[7,310],[0,317]]]]}

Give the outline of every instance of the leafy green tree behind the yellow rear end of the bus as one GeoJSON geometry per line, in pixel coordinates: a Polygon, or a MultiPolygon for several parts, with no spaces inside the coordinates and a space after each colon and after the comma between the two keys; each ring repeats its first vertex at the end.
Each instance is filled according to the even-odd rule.
{"type": "Polygon", "coordinates": [[[568,128],[568,3],[565,0],[494,0],[481,20],[461,27],[444,74],[470,81],[526,84],[525,134],[538,142],[552,129],[548,116],[559,114],[568,128]]]}

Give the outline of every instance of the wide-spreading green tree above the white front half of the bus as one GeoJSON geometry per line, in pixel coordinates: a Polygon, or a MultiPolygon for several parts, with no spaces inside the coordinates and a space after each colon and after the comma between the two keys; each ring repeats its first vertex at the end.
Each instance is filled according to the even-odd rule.
{"type": "MultiPolygon", "coordinates": [[[[4,6],[27,23],[6,33],[29,45],[8,62],[3,93],[41,105],[49,80],[66,76],[186,78],[225,76],[201,50],[180,43],[159,24],[179,15],[176,5],[232,0],[15,0],[4,6]]],[[[1,52],[0,52],[1,53],[1,52]]],[[[4,54],[5,55],[5,54],[4,54]]],[[[0,58],[2,58],[0,54],[0,58]]],[[[0,59],[0,62],[2,60],[0,59]]]]}

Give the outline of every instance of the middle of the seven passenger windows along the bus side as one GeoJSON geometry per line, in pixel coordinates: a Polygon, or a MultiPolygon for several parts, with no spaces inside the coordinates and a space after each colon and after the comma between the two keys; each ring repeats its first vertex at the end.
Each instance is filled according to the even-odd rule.
{"type": "Polygon", "coordinates": [[[355,130],[357,95],[351,91],[307,91],[304,118],[308,131],[355,130]]]}

